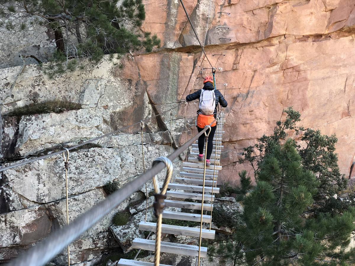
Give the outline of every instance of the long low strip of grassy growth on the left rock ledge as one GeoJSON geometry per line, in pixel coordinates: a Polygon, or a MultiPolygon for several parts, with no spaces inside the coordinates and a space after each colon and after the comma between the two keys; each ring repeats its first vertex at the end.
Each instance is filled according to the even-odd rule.
{"type": "Polygon", "coordinates": [[[69,110],[78,110],[81,105],[77,102],[67,100],[53,100],[44,102],[35,102],[33,104],[17,107],[11,111],[9,116],[35,115],[41,113],[62,113],[69,110]]]}

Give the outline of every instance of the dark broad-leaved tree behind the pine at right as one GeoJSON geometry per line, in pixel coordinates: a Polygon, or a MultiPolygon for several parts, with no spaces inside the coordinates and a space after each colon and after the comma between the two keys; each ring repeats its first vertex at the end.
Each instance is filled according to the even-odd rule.
{"type": "MultiPolygon", "coordinates": [[[[273,171],[273,169],[265,168],[264,172],[260,173],[260,167],[266,160],[267,155],[275,147],[279,146],[289,136],[289,133],[295,132],[299,134],[302,131],[303,135],[300,144],[303,145],[294,144],[298,151],[297,156],[300,156],[300,163],[304,166],[304,169],[315,174],[320,182],[314,199],[318,205],[323,205],[327,198],[344,190],[348,183],[345,176],[340,174],[338,154],[335,153],[335,144],[338,139],[335,135],[322,135],[319,130],[304,129],[296,126],[296,123],[301,121],[301,114],[292,107],[288,107],[284,112],[287,115],[285,121],[276,122],[272,135],[263,135],[258,139],[255,146],[249,146],[244,149],[245,160],[243,161],[250,162],[254,169],[255,177],[259,176],[261,179],[273,178],[269,175],[269,172],[273,171]]],[[[280,173],[275,172],[275,174],[280,173]]],[[[333,207],[328,206],[327,208],[333,207]]]]}

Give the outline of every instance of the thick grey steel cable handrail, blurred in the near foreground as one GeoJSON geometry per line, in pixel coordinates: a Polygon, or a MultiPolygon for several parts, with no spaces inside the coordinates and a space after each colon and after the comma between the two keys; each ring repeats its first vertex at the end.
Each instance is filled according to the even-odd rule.
{"type": "MultiPolygon", "coordinates": [[[[169,110],[170,111],[170,110],[169,110]]],[[[213,120],[209,126],[214,122],[213,120]]],[[[140,122],[138,122],[139,124],[140,122]]],[[[178,158],[178,156],[185,151],[189,146],[195,142],[198,137],[200,137],[208,127],[205,127],[201,132],[199,132],[195,137],[192,137],[179,149],[175,150],[174,153],[168,156],[168,159],[173,161],[178,158]]],[[[40,241],[33,248],[25,251],[16,259],[9,262],[9,266],[39,266],[47,264],[51,259],[58,255],[64,248],[66,248],[70,243],[75,241],[80,235],[91,228],[95,223],[101,220],[104,216],[108,215],[113,209],[115,209],[120,203],[122,203],[126,198],[128,198],[133,192],[141,188],[148,180],[153,176],[158,174],[165,168],[164,162],[158,162],[152,168],[150,168],[146,173],[140,174],[130,183],[124,185],[119,190],[109,195],[105,200],[101,201],[90,210],[84,212],[73,220],[69,225],[66,225],[53,232],[47,238],[40,241]]]]}

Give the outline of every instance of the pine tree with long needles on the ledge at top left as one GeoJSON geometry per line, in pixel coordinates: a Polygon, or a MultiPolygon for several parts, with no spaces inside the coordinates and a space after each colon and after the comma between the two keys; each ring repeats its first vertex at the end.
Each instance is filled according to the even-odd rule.
{"type": "Polygon", "coordinates": [[[8,30],[39,24],[53,31],[58,53],[51,60],[53,69],[47,71],[50,77],[75,70],[83,57],[98,63],[105,54],[120,58],[131,51],[160,47],[157,35],[140,29],[146,18],[142,0],[14,0],[1,8],[0,15],[13,14],[19,18],[6,20],[8,30]]]}

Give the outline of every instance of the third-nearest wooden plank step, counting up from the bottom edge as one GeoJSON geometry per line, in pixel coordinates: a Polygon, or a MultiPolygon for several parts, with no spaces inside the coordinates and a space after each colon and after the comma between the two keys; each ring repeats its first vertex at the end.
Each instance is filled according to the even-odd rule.
{"type": "MultiPolygon", "coordinates": [[[[157,224],[150,222],[140,222],[138,228],[142,231],[157,231],[157,224]]],[[[187,235],[188,237],[200,237],[200,228],[176,226],[176,225],[162,225],[162,233],[187,235]]],[[[202,229],[202,238],[214,239],[214,230],[202,229]]]]}

